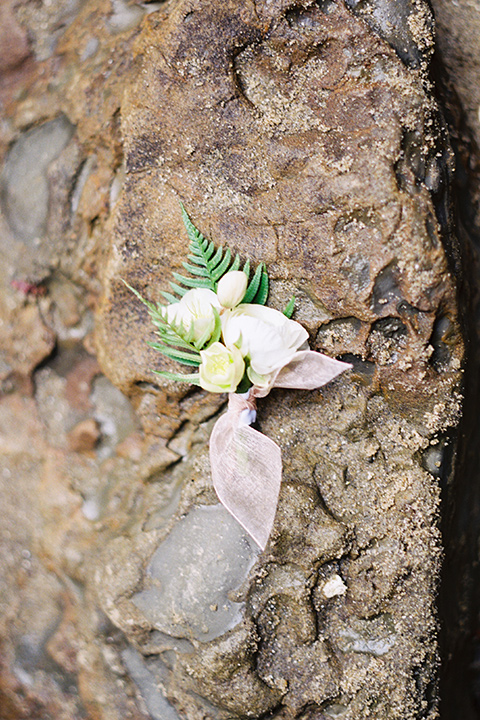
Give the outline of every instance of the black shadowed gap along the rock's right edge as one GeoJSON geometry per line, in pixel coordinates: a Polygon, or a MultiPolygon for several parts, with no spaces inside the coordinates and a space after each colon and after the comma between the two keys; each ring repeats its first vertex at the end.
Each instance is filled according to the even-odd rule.
{"type": "MultiPolygon", "coordinates": [[[[460,100],[438,51],[432,62],[432,78],[455,154],[451,189],[455,232],[461,248],[458,293],[466,338],[464,411],[456,432],[455,467],[453,474],[450,468],[445,468],[441,478],[441,529],[445,559],[439,592],[440,712],[442,720],[457,720],[460,717],[462,720],[478,720],[480,695],[474,661],[475,654],[478,654],[480,611],[480,231],[475,222],[478,201],[474,188],[479,182],[479,148],[466,124],[460,100]]],[[[450,454],[455,454],[453,447],[450,454]]]]}

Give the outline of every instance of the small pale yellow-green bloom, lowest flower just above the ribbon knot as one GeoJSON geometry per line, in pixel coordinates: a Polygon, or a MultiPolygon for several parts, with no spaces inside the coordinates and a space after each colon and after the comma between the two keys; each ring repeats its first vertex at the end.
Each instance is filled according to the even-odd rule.
{"type": "Polygon", "coordinates": [[[200,385],[209,392],[235,392],[245,372],[240,350],[228,349],[220,342],[212,343],[200,352],[202,362],[198,371],[200,385]]]}

